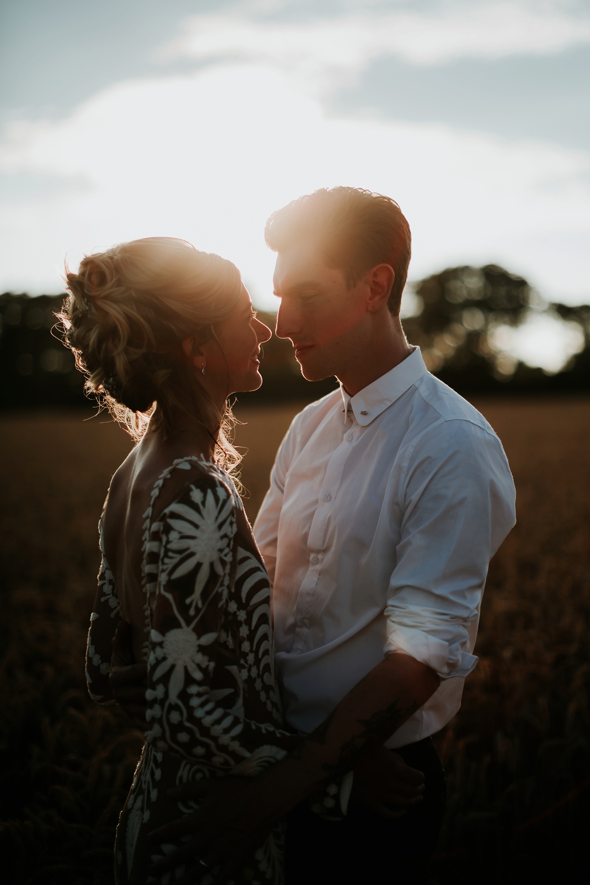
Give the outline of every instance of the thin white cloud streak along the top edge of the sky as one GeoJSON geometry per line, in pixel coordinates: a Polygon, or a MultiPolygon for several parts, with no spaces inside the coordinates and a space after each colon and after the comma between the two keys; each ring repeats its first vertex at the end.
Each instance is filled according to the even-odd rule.
{"type": "Polygon", "coordinates": [[[571,3],[456,0],[387,12],[354,6],[364,11],[304,21],[277,19],[276,11],[262,18],[257,4],[194,16],[159,57],[266,62],[321,89],[383,56],[439,65],[456,58],[555,53],[590,42],[590,15],[576,14],[571,3]]]}

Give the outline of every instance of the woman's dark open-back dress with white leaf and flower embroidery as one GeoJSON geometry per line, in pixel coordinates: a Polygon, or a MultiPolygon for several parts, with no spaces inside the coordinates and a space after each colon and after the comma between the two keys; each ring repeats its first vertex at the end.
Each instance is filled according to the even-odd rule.
{"type": "MultiPolygon", "coordinates": [[[[151,861],[177,844],[154,845],[151,830],[193,812],[171,787],[226,774],[253,776],[296,741],[282,727],[274,669],[268,574],[232,481],[197,458],[175,461],[158,479],[143,526],[143,589],[149,731],[115,844],[119,885],[180,879],[184,866],[157,880],[151,861]],[[173,477],[172,503],[158,498],[173,477]]],[[[100,609],[88,634],[91,696],[110,696],[110,643],[123,617],[104,557],[100,609]]],[[[283,881],[284,830],[276,827],[234,873],[235,885],[283,881]]],[[[215,869],[197,874],[208,885],[215,869]]]]}

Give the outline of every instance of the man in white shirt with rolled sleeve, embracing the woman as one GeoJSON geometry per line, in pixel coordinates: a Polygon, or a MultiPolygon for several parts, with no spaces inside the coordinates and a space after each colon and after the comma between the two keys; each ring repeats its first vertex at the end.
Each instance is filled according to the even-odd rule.
{"type": "Polygon", "coordinates": [[[307,379],[341,382],[295,418],[254,527],[285,720],[306,736],[256,782],[193,789],[194,850],[211,865],[228,834],[245,844],[288,813],[287,883],[425,881],[444,788],[430,735],[477,663],[487,566],[515,521],[510,469],[487,421],[405,339],[410,228],[393,200],[319,190],[265,235],[277,335],[307,379]],[[387,787],[399,757],[425,774],[401,818],[390,803],[403,788],[387,787]]]}

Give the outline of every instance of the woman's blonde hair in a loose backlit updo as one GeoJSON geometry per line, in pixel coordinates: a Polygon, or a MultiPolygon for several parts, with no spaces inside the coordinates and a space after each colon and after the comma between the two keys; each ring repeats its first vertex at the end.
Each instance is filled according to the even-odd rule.
{"type": "Polygon", "coordinates": [[[87,392],[136,441],[148,425],[168,434],[180,429],[174,416],[196,417],[212,428],[219,460],[235,466],[231,410],[211,402],[182,341],[195,337],[198,350],[218,340],[216,327],[241,294],[237,267],[184,240],[149,237],[87,255],[78,273],[66,268],[65,281],[70,294],[58,316],[87,392]]]}

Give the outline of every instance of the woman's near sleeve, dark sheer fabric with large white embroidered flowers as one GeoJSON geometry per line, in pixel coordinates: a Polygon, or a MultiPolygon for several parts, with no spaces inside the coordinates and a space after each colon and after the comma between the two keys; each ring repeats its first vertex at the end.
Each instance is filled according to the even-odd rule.
{"type": "Polygon", "coordinates": [[[293,737],[260,702],[270,586],[262,564],[236,583],[238,550],[231,491],[211,475],[197,476],[150,527],[147,737],[157,750],[251,774],[282,758],[293,737]],[[252,718],[257,703],[262,722],[252,718]]]}

